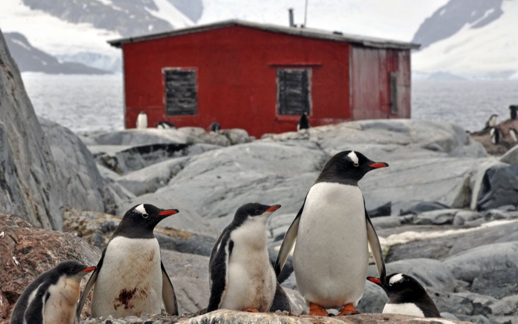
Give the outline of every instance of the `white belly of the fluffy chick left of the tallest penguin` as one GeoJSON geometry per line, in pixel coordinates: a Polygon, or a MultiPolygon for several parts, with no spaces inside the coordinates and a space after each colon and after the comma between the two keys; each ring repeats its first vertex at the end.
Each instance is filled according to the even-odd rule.
{"type": "Polygon", "coordinates": [[[228,284],[220,308],[269,311],[274,302],[276,277],[266,249],[261,219],[243,224],[231,234],[234,248],[228,260],[228,284]]]}

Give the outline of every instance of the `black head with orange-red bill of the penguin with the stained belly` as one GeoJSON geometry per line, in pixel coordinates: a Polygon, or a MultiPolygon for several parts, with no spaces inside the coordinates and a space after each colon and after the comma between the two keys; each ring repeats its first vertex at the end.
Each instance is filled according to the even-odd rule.
{"type": "Polygon", "coordinates": [[[161,220],[177,213],[178,209],[160,209],[150,204],[135,205],[124,214],[113,235],[153,236],[153,229],[161,220]]]}

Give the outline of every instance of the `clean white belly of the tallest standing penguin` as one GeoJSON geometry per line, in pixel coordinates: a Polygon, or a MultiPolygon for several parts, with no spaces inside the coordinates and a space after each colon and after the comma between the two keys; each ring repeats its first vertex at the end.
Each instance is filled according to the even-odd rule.
{"type": "Polygon", "coordinates": [[[313,185],[293,253],[300,293],[325,308],[356,306],[364,292],[368,260],[361,190],[328,182],[313,185]]]}

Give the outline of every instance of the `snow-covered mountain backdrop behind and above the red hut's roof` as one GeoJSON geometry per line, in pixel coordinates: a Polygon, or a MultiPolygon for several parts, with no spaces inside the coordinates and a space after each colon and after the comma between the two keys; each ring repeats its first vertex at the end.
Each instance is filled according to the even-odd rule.
{"type": "MultiPolygon", "coordinates": [[[[227,19],[303,24],[305,0],[1,0],[0,28],[60,61],[120,71],[106,40],[227,19]]],[[[518,0],[309,0],[307,26],[423,44],[414,76],[518,78],[518,0]]]]}

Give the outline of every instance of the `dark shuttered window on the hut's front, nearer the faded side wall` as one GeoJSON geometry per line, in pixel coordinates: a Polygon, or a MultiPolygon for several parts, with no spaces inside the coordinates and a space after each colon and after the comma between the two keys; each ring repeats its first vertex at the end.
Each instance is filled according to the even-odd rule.
{"type": "Polygon", "coordinates": [[[279,115],[310,114],[311,69],[277,69],[277,112],[279,115]]]}

